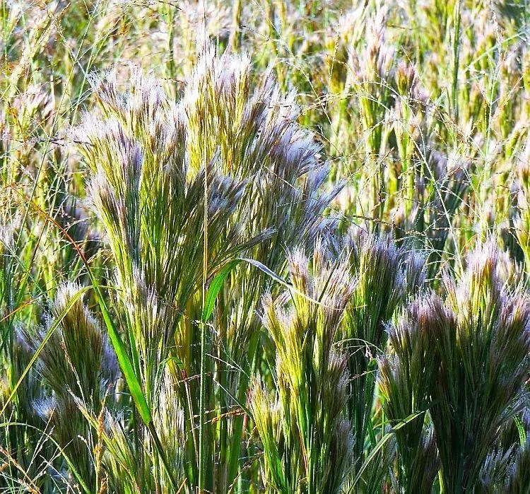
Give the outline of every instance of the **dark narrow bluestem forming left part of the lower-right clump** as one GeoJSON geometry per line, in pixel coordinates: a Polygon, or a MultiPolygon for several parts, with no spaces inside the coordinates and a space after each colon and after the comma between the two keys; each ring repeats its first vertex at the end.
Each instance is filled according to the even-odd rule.
{"type": "Polygon", "coordinates": [[[433,353],[433,334],[444,328],[442,300],[420,296],[404,309],[389,327],[391,353],[378,358],[377,387],[385,416],[398,423],[416,414],[413,421],[396,430],[401,492],[428,492],[440,467],[432,428],[424,432],[425,413],[431,405],[440,357],[433,353]]]}

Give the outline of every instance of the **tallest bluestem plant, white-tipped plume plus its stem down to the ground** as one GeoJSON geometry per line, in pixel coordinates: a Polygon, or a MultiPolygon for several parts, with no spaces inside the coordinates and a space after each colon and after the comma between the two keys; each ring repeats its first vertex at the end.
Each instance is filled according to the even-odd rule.
{"type": "MultiPolygon", "coordinates": [[[[194,78],[184,90],[192,166],[218,153],[218,163],[231,177],[245,177],[242,194],[231,224],[248,236],[267,231],[248,252],[272,271],[285,271],[285,249],[312,248],[317,234],[336,220],[324,211],[341,189],[338,184],[323,191],[329,166],[318,158],[320,146],[295,123],[300,108],[295,94],[282,95],[271,71],[254,90],[247,57],[215,57],[213,47],[199,60],[194,78]]],[[[234,399],[220,397],[220,456],[218,490],[230,486],[240,463],[243,417],[230,416],[243,403],[259,341],[255,312],[269,276],[255,267],[240,265],[220,294],[216,318],[216,373],[220,386],[234,399]],[[230,437],[231,436],[231,437],[230,437]]],[[[223,393],[224,394],[224,393],[223,393]]]]}

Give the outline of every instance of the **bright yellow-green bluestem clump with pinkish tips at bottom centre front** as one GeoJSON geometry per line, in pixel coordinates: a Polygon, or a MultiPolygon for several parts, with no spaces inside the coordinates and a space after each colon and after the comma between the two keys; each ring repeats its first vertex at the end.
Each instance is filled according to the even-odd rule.
{"type": "Polygon", "coordinates": [[[270,492],[338,493],[351,466],[346,405],[346,358],[333,341],[353,290],[344,262],[326,259],[317,243],[312,264],[300,251],[289,257],[298,290],[292,305],[266,295],[263,320],[276,346],[276,394],[254,383],[252,415],[264,445],[264,481],[270,492]]]}

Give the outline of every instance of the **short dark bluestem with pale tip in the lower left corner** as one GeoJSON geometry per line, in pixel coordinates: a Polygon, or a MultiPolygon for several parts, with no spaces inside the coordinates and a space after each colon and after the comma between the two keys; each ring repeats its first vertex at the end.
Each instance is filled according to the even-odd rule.
{"type": "MultiPolygon", "coordinates": [[[[30,328],[22,331],[20,337],[25,340],[29,353],[37,351],[54,318],[66,310],[78,290],[75,285],[59,288],[47,325],[36,331],[30,328]]],[[[118,367],[106,334],[81,299],[73,302],[49,338],[40,353],[37,370],[52,394],[35,397],[33,406],[52,428],[52,436],[65,448],[81,481],[90,489],[99,488],[93,458],[97,454],[97,439],[76,399],[98,416],[105,397],[112,394],[118,367]]]]}

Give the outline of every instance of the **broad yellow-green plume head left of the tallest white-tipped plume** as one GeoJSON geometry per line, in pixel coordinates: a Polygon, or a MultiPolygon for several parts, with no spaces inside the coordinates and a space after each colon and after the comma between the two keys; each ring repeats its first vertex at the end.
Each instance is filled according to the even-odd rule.
{"type": "Polygon", "coordinates": [[[249,247],[228,223],[245,181],[225,175],[215,153],[190,172],[202,155],[190,148],[189,115],[170,102],[159,81],[131,68],[126,90],[119,91],[112,73],[94,88],[106,119],[88,116],[72,136],[93,172],[93,204],[120,278],[132,279],[136,265],[149,288],[183,307],[200,285],[205,169],[212,270],[249,247]]]}

